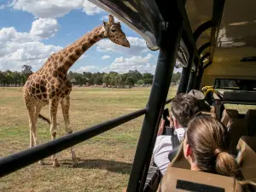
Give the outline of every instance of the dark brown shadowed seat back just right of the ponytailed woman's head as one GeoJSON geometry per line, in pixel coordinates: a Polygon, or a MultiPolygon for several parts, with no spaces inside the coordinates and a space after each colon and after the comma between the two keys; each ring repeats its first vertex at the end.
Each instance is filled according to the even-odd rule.
{"type": "Polygon", "coordinates": [[[246,119],[230,119],[230,153],[237,154],[237,143],[242,136],[248,135],[247,120],[246,119]]]}

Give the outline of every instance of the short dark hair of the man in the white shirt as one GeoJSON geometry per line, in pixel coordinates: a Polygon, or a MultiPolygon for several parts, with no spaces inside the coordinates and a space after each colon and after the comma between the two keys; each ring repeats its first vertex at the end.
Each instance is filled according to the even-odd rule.
{"type": "Polygon", "coordinates": [[[187,127],[189,120],[201,111],[199,101],[188,94],[178,94],[172,100],[171,111],[179,125],[187,127]]]}

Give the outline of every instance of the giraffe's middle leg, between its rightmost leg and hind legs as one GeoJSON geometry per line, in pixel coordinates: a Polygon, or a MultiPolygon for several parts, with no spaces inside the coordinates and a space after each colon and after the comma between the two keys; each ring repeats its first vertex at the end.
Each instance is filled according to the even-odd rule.
{"type": "MultiPolygon", "coordinates": [[[[50,113],[50,127],[49,127],[49,130],[50,130],[52,140],[55,140],[55,137],[56,137],[56,134],[57,134],[58,103],[59,103],[59,101],[57,101],[55,99],[49,101],[49,113],[50,113]]],[[[52,155],[51,160],[53,161],[52,166],[60,166],[55,154],[52,155]]]]}

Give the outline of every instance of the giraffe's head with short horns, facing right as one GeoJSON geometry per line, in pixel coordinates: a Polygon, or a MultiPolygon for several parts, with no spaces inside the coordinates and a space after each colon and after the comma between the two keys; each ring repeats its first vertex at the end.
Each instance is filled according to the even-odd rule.
{"type": "Polygon", "coordinates": [[[114,44],[130,48],[130,43],[125,36],[125,32],[121,29],[121,24],[119,22],[115,23],[112,15],[109,15],[109,21],[103,21],[103,24],[105,28],[104,36],[106,38],[109,38],[114,44]]]}

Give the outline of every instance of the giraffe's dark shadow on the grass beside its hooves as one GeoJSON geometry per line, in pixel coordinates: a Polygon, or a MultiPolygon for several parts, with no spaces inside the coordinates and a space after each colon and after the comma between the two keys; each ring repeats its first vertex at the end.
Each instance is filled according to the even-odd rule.
{"type": "MultiPolygon", "coordinates": [[[[65,160],[61,162],[62,165],[70,165],[72,162],[68,162],[65,160]]],[[[75,166],[77,168],[84,169],[105,169],[108,172],[117,172],[122,174],[130,174],[131,172],[131,163],[125,163],[114,160],[81,160],[79,159],[79,163],[75,166]]]]}

